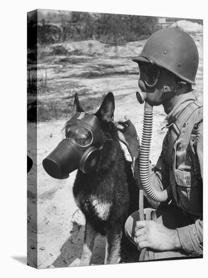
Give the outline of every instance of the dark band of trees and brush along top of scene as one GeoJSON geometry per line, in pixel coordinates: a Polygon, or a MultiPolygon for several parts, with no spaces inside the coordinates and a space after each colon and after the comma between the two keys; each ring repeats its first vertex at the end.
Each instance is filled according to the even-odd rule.
{"type": "MultiPolygon", "coordinates": [[[[35,32],[30,18],[30,34],[35,32]]],[[[38,12],[37,42],[96,39],[123,44],[148,37],[157,29],[157,18],[148,16],[98,14],[85,12],[38,12]]]]}

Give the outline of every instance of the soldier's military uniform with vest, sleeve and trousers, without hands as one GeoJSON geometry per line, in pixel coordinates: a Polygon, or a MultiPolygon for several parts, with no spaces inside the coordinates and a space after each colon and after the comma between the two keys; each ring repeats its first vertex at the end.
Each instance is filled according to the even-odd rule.
{"type": "MultiPolygon", "coordinates": [[[[156,252],[154,259],[202,255],[202,104],[193,90],[182,95],[166,120],[168,132],[157,165],[150,166],[150,181],[158,191],[171,185],[172,201],[149,202],[156,209],[158,222],[177,229],[182,250],[156,252]]],[[[134,229],[138,220],[136,211],[125,225],[127,237],[136,245],[134,229]]],[[[148,254],[145,259],[149,259],[148,254]]]]}

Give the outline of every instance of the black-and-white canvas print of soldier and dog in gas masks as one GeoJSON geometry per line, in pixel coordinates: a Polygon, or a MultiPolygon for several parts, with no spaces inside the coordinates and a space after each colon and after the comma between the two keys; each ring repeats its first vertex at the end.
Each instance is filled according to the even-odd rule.
{"type": "Polygon", "coordinates": [[[203,20],[27,14],[27,263],[203,257],[203,20]]]}

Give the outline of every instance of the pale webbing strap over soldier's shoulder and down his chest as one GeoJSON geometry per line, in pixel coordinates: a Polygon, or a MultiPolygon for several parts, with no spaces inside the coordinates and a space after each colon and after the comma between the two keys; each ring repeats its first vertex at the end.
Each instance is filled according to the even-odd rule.
{"type": "Polygon", "coordinates": [[[186,106],[186,108],[181,112],[180,116],[176,119],[175,123],[169,128],[169,150],[167,163],[169,164],[170,169],[173,169],[173,148],[181,134],[181,129],[184,127],[192,113],[200,107],[202,107],[202,104],[198,101],[189,103],[189,105],[186,106]]]}

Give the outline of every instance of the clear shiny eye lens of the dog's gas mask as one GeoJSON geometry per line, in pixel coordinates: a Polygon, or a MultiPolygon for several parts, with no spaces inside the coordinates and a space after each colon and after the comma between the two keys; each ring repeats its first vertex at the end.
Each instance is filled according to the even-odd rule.
{"type": "Polygon", "coordinates": [[[91,131],[76,124],[65,125],[65,137],[74,140],[79,146],[82,147],[86,147],[92,143],[91,131]]]}

